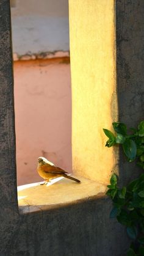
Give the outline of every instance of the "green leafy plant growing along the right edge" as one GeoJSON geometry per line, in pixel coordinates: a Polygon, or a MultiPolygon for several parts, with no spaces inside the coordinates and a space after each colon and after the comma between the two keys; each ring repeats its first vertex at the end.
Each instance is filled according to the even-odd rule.
{"type": "MultiPolygon", "coordinates": [[[[144,121],[140,122],[137,130],[131,128],[128,134],[124,123],[113,123],[116,135],[103,129],[109,140],[106,147],[121,144],[124,155],[129,162],[137,160],[137,164],[144,169],[144,121]]],[[[144,255],[144,174],[136,180],[132,180],[127,186],[118,188],[117,175],[110,178],[107,186],[107,196],[113,201],[110,218],[117,218],[118,222],[126,227],[131,247],[128,256],[144,255]]]]}

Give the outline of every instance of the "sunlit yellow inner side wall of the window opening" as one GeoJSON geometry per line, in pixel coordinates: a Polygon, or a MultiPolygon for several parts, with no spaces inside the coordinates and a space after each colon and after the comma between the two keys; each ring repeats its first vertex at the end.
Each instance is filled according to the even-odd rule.
{"type": "Polygon", "coordinates": [[[69,0],[73,172],[104,183],[115,164],[103,128],[117,120],[114,0],[69,0]]]}

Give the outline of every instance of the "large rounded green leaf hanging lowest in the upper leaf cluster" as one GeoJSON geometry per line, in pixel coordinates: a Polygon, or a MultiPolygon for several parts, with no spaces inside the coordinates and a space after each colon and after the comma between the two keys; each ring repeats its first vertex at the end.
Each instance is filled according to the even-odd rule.
{"type": "Polygon", "coordinates": [[[124,141],[123,150],[130,161],[135,159],[137,154],[137,146],[135,145],[135,142],[132,141],[132,139],[126,139],[126,141],[124,141]]]}

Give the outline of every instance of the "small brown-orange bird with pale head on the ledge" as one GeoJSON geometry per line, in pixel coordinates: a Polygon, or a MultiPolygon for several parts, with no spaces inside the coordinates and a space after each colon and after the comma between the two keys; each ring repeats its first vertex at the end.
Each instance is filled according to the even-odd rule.
{"type": "Polygon", "coordinates": [[[40,156],[38,158],[38,166],[37,171],[40,177],[42,177],[45,182],[42,184],[47,184],[50,180],[57,177],[65,177],[70,178],[70,180],[74,180],[76,182],[81,182],[80,180],[77,180],[76,178],[73,178],[71,176],[67,175],[67,172],[65,170],[54,166],[53,163],[49,162],[48,159],[44,158],[43,156],[40,156]]]}

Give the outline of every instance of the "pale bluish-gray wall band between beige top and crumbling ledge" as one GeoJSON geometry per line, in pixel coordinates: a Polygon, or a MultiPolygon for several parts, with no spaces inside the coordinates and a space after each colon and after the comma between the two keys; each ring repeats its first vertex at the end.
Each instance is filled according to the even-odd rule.
{"type": "Polygon", "coordinates": [[[12,19],[12,28],[13,51],[20,56],[69,51],[67,17],[18,16],[12,19]]]}

